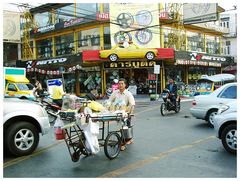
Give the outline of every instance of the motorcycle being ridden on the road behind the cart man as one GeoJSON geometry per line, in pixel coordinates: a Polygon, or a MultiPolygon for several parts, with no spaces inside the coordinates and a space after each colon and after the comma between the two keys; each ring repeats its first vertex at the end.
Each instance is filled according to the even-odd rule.
{"type": "Polygon", "coordinates": [[[169,111],[175,111],[175,113],[178,113],[180,111],[180,97],[178,96],[176,98],[176,105],[171,101],[171,93],[168,89],[164,89],[162,92],[162,98],[163,103],[160,107],[160,112],[162,116],[165,116],[167,112],[169,111]]]}

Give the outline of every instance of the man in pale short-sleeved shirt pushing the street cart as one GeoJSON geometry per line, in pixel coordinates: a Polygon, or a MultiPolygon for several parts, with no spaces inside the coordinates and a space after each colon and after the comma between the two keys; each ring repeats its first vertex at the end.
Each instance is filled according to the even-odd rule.
{"type": "MultiPolygon", "coordinates": [[[[111,94],[109,101],[111,102],[111,104],[114,104],[117,102],[117,103],[121,103],[121,105],[125,105],[126,112],[128,112],[129,114],[133,114],[135,100],[132,93],[126,89],[126,85],[127,85],[126,79],[120,78],[118,80],[118,89],[111,94]]],[[[133,125],[132,125],[131,119],[127,121],[127,126],[128,128],[132,129],[133,125]]],[[[129,138],[126,141],[127,141],[126,144],[131,144],[133,143],[133,138],[129,138]]],[[[125,145],[121,145],[122,151],[125,150],[125,148],[126,148],[125,145]]]]}

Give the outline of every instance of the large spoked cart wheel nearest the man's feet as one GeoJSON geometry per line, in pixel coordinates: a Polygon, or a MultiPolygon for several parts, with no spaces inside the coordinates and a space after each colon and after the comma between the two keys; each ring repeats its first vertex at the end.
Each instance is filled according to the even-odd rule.
{"type": "Polygon", "coordinates": [[[104,153],[110,159],[114,159],[120,153],[121,138],[117,132],[111,132],[107,135],[104,142],[104,153]]]}

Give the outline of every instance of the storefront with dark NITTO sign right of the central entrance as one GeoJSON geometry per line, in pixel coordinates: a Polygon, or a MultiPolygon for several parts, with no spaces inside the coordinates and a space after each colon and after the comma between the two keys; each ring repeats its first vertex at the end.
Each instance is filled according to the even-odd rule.
{"type": "Polygon", "coordinates": [[[194,91],[196,81],[202,75],[222,73],[222,69],[233,62],[233,57],[211,55],[189,51],[175,51],[174,66],[166,66],[166,81],[175,79],[179,85],[188,85],[190,92],[194,91]]]}

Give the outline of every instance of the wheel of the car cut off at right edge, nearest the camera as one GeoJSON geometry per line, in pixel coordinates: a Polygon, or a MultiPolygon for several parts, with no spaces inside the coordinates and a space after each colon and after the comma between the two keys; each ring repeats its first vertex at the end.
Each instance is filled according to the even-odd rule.
{"type": "Polygon", "coordinates": [[[237,152],[237,126],[236,124],[230,124],[224,128],[221,140],[223,147],[230,153],[237,152]]]}

